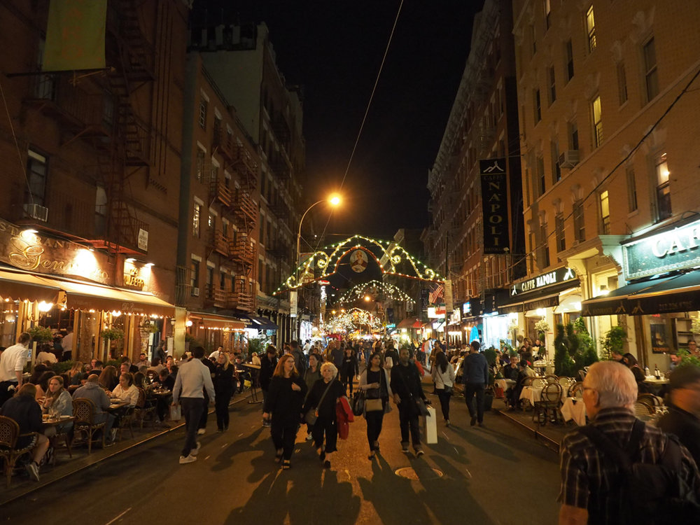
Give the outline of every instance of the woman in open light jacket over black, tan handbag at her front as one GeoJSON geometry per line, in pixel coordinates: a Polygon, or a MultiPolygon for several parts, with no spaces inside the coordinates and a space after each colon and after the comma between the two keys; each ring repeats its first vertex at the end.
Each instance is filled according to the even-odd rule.
{"type": "Polygon", "coordinates": [[[367,443],[370,445],[368,458],[374,459],[379,451],[379,434],[384,422],[384,411],[391,398],[391,379],[381,366],[381,353],[370,356],[367,368],[360,374],[358,388],[365,392],[365,421],[367,421],[367,443]]]}

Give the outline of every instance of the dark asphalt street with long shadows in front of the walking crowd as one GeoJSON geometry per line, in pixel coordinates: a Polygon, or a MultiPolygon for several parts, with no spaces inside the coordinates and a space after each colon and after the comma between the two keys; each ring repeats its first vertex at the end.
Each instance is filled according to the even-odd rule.
{"type": "Polygon", "coordinates": [[[0,507],[20,524],[549,524],[559,505],[558,458],[507,418],[488,413],[470,427],[461,395],[444,426],[434,395],[438,442],[416,458],[400,451],[398,410],[384,417],[377,459],[367,459],[362,417],[330,470],[305,428],[290,470],[274,463],[260,405],[233,404],[228,432],[214,414],[198,461],[179,465],[183,429],[108,458],[0,507]],[[398,475],[408,469],[407,477],[398,475]]]}

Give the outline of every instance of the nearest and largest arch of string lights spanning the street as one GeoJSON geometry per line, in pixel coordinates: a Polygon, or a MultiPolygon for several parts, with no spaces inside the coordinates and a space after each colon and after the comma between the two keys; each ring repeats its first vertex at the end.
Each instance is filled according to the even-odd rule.
{"type": "Polygon", "coordinates": [[[368,257],[374,259],[384,274],[398,275],[420,281],[443,280],[442,276],[435,272],[434,269],[413,258],[402,246],[394,244],[393,241],[381,241],[364,237],[363,235],[353,235],[344,241],[331,244],[312,253],[307,260],[297,267],[293,274],[287,277],[286,281],[279,288],[274,290],[273,295],[286,292],[287,290],[297,290],[304,284],[327,279],[328,276],[337,272],[340,260],[357,249],[365,251],[368,257]],[[381,264],[381,259],[383,258],[386,258],[386,265],[381,264]],[[320,274],[316,273],[316,270],[320,274]]]}

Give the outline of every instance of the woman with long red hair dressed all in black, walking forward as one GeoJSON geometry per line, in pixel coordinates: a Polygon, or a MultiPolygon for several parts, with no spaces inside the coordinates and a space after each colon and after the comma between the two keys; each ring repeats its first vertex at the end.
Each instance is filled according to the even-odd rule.
{"type": "Polygon", "coordinates": [[[307,386],[297,373],[294,356],[289,353],[283,355],[269,381],[267,399],[262,409],[263,419],[269,420],[272,415],[270,434],[276,449],[274,457],[278,463],[281,461],[283,470],[291,467],[306,393],[307,386]]]}

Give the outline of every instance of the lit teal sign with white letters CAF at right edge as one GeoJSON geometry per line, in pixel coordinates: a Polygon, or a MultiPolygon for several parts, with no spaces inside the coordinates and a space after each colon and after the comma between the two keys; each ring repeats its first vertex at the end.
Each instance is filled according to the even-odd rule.
{"type": "Polygon", "coordinates": [[[700,221],[622,245],[624,279],[700,265],[700,221]]]}

